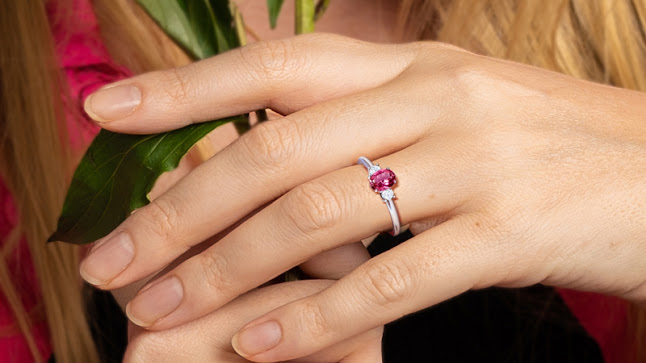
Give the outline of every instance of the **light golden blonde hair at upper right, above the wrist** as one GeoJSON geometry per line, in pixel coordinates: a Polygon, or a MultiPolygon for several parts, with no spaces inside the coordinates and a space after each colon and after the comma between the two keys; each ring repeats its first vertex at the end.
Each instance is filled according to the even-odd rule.
{"type": "Polygon", "coordinates": [[[643,0],[404,0],[401,10],[422,38],[646,90],[643,0]]]}

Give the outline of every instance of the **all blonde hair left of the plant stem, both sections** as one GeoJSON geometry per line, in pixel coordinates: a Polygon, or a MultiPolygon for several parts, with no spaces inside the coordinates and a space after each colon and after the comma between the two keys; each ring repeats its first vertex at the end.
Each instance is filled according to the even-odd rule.
{"type": "MultiPolygon", "coordinates": [[[[69,11],[73,2],[69,1],[67,7],[65,1],[57,2],[57,8],[67,11],[55,14],[54,20],[73,21],[69,11]]],[[[119,63],[135,73],[189,61],[133,2],[96,0],[93,3],[106,45],[119,63]]],[[[45,244],[56,226],[73,171],[72,160],[80,157],[72,155],[68,146],[61,99],[67,90],[57,63],[45,5],[43,0],[0,2],[3,45],[0,172],[20,216],[0,251],[0,290],[34,360],[42,362],[31,331],[36,322],[25,311],[19,293],[23,287],[14,284],[7,266],[11,252],[24,238],[35,267],[57,360],[92,363],[100,360],[81,291],[79,248],[63,243],[45,244]]]]}

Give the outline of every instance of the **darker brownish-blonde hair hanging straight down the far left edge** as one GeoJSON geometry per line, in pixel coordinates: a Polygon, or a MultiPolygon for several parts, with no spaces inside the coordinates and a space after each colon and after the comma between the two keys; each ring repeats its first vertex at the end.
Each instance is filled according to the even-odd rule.
{"type": "Polygon", "coordinates": [[[42,0],[3,1],[0,6],[0,170],[19,220],[2,246],[0,287],[35,361],[41,362],[7,259],[24,238],[42,292],[53,349],[61,361],[96,362],[81,297],[78,251],[45,245],[60,211],[70,172],[62,90],[49,22],[42,0]],[[43,90],[47,90],[43,92],[43,90]]]}

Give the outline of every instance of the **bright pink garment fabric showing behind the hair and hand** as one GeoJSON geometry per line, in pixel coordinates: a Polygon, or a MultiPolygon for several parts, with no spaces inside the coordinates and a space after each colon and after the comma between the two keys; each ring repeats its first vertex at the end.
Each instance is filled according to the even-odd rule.
{"type": "MultiPolygon", "coordinates": [[[[62,69],[67,75],[71,98],[67,99],[66,122],[72,147],[82,150],[98,132],[98,127],[82,111],[85,98],[97,88],[124,77],[129,72],[115,65],[102,44],[91,5],[87,0],[73,0],[72,24],[55,24],[52,32],[62,69]]],[[[56,2],[48,9],[53,18],[59,9],[56,2]]],[[[63,17],[64,18],[64,17],[63,17]]],[[[16,224],[17,216],[11,196],[0,180],[0,242],[16,224]]],[[[24,242],[24,241],[23,241],[24,242]]],[[[11,255],[9,267],[20,288],[22,302],[34,318],[33,332],[43,359],[51,354],[46,322],[39,305],[40,292],[26,243],[11,255]]],[[[559,289],[583,327],[599,343],[609,363],[625,362],[626,303],[598,294],[559,289]]],[[[15,327],[6,299],[0,296],[0,361],[32,361],[24,338],[15,327]]]]}

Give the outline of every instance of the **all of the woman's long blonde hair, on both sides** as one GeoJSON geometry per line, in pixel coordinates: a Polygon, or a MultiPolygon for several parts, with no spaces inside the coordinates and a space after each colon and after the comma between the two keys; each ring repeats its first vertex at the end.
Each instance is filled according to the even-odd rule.
{"type": "MultiPolygon", "coordinates": [[[[92,2],[112,57],[134,73],[189,61],[133,1],[92,2]]],[[[645,1],[402,0],[401,10],[420,38],[646,90],[645,1]]],[[[98,362],[80,292],[78,249],[44,244],[55,226],[73,164],[61,122],[64,82],[47,24],[43,0],[0,2],[0,171],[20,215],[2,249],[0,289],[34,359],[42,361],[30,330],[33,322],[6,264],[24,237],[57,359],[98,362]]],[[[633,316],[639,319],[633,333],[643,347],[644,315],[635,309],[633,316]]],[[[643,357],[641,348],[639,352],[643,357]]]]}

